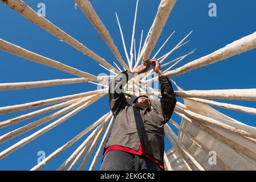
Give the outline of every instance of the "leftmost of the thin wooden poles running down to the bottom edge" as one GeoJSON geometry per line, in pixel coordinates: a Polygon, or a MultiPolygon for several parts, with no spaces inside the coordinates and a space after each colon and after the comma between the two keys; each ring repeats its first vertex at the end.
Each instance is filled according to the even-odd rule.
{"type": "Polygon", "coordinates": [[[59,154],[61,154],[64,150],[72,146],[76,141],[78,141],[80,138],[82,138],[84,135],[86,135],[88,132],[90,132],[92,129],[94,129],[96,126],[98,126],[101,122],[104,121],[104,119],[107,117],[109,113],[104,114],[100,119],[98,119],[96,122],[92,123],[87,129],[76,135],[76,137],[72,138],[70,141],[68,141],[64,146],[58,148],[54,152],[52,152],[51,155],[47,156],[42,162],[38,163],[36,166],[34,166],[30,171],[36,171],[45,166],[48,162],[50,162],[52,159],[56,158],[59,154]]]}

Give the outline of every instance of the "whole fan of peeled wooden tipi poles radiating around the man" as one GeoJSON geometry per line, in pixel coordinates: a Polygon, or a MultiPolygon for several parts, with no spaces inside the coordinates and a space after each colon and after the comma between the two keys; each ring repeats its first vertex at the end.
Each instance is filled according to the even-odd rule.
{"type": "MultiPolygon", "coordinates": [[[[107,71],[113,72],[116,74],[123,72],[124,70],[132,71],[138,65],[140,65],[142,60],[149,60],[150,58],[156,58],[161,63],[161,68],[166,67],[169,64],[168,68],[165,69],[164,75],[167,77],[170,76],[178,76],[183,73],[192,71],[193,69],[204,67],[209,64],[217,63],[218,61],[225,60],[231,56],[235,56],[239,53],[249,51],[256,47],[256,32],[251,35],[245,36],[239,40],[236,40],[233,43],[228,44],[224,48],[218,49],[217,51],[210,53],[204,57],[196,59],[194,61],[190,61],[189,63],[178,67],[176,69],[172,69],[175,65],[180,63],[180,61],[184,60],[186,57],[194,53],[194,50],[186,53],[183,56],[177,57],[176,59],[170,60],[166,63],[163,63],[174,51],[178,48],[184,46],[189,41],[185,40],[192,34],[192,31],[189,32],[174,48],[170,49],[169,52],[166,52],[162,56],[158,56],[161,49],[165,46],[165,44],[172,38],[174,32],[170,34],[170,36],[166,39],[166,41],[162,44],[160,49],[157,50],[155,55],[152,56],[152,51],[156,46],[157,40],[159,40],[161,32],[168,20],[170,13],[176,3],[176,0],[161,0],[159,9],[156,14],[156,18],[153,21],[151,28],[149,28],[148,34],[144,40],[143,44],[143,30],[141,32],[140,44],[139,44],[139,51],[136,53],[136,42],[135,42],[135,29],[136,29],[136,18],[137,18],[137,9],[139,5],[139,0],[137,0],[136,8],[135,8],[135,18],[133,22],[133,29],[132,29],[132,38],[131,38],[131,48],[128,55],[127,48],[125,46],[123,32],[121,30],[121,24],[116,14],[117,24],[120,28],[121,40],[124,47],[126,62],[123,60],[119,50],[116,48],[111,35],[109,34],[107,28],[105,28],[103,22],[100,20],[99,16],[97,15],[96,11],[92,7],[91,3],[87,0],[75,0],[76,5],[83,11],[83,13],[87,16],[90,20],[91,24],[95,27],[96,31],[104,39],[105,43],[115,55],[116,60],[119,62],[120,65],[113,62],[115,67],[108,63],[105,59],[101,58],[95,52],[91,51],[89,48],[84,46],[82,43],[78,42],[75,38],[71,35],[68,35],[66,32],[61,30],[55,24],[51,23],[49,20],[40,16],[34,10],[31,9],[25,2],[21,0],[0,0],[3,4],[10,7],[17,13],[24,16],[26,19],[30,20],[30,22],[36,24],[37,26],[43,28],[50,34],[56,36],[58,39],[66,42],[70,46],[76,48],[78,51],[84,53],[91,57],[93,60],[97,61],[101,67],[106,69],[107,71]],[[157,57],[158,56],[158,57],[157,57]],[[121,68],[120,68],[121,67],[121,68]]],[[[5,135],[0,136],[0,143],[6,142],[11,140],[19,135],[26,133],[36,127],[43,125],[57,117],[60,117],[56,121],[50,123],[49,125],[43,127],[42,129],[36,131],[35,133],[29,135],[29,137],[23,138],[19,140],[19,142],[13,144],[12,146],[8,147],[6,150],[0,152],[0,159],[5,158],[7,155],[11,154],[15,150],[18,150],[25,144],[31,142],[35,138],[39,137],[40,135],[46,133],[47,131],[53,129],[55,126],[58,126],[60,123],[66,121],[68,118],[72,117],[79,111],[86,109],[86,107],[90,106],[100,98],[104,97],[108,93],[108,84],[109,81],[115,77],[114,76],[94,76],[90,73],[84,72],[80,69],[70,67],[66,64],[61,63],[60,61],[52,60],[48,57],[39,55],[38,53],[31,52],[25,48],[19,47],[13,43],[8,42],[7,40],[0,39],[0,49],[5,52],[9,52],[13,55],[23,57],[27,60],[34,61],[39,64],[46,65],[48,67],[52,67],[55,69],[59,69],[60,71],[70,73],[74,76],[78,76],[75,78],[69,79],[58,79],[58,80],[44,80],[44,81],[33,81],[33,82],[14,82],[14,83],[2,83],[0,84],[0,91],[3,90],[17,90],[17,89],[30,89],[30,88],[42,88],[46,86],[55,86],[55,85],[64,85],[64,84],[76,84],[76,83],[84,83],[88,82],[91,84],[96,84],[99,86],[103,86],[103,89],[100,90],[92,90],[90,92],[78,93],[68,96],[61,96],[56,98],[50,98],[46,100],[40,100],[35,102],[29,102],[26,104],[19,104],[13,106],[3,106],[0,107],[0,114],[7,114],[13,113],[23,110],[34,109],[36,107],[44,107],[43,109],[32,111],[31,113],[19,115],[18,117],[7,119],[6,121],[0,121],[0,128],[8,127],[14,125],[16,123],[20,123],[25,121],[26,119],[30,119],[33,117],[38,117],[39,115],[49,113],[50,111],[55,111],[52,114],[47,115],[46,117],[40,118],[35,122],[31,122],[25,126],[19,127],[5,135]]],[[[141,92],[145,92],[149,94],[153,100],[153,104],[159,104],[159,96],[161,95],[160,90],[156,90],[148,86],[153,81],[157,81],[158,77],[153,77],[153,69],[148,71],[145,75],[140,77],[132,78],[127,84],[127,100],[132,102],[132,98],[139,96],[141,92]],[[149,78],[149,79],[148,79],[149,78]],[[141,86],[143,85],[143,86],[141,86]],[[136,88],[136,89],[135,89],[136,88]],[[147,92],[146,92],[147,91],[147,92]],[[132,96],[132,97],[129,97],[132,96]]],[[[252,107],[245,107],[240,105],[233,105],[227,104],[217,101],[211,101],[209,99],[221,99],[221,100],[245,100],[245,101],[256,101],[256,89],[227,89],[227,90],[179,90],[175,92],[176,97],[184,98],[188,100],[193,100],[196,102],[200,102],[202,104],[221,107],[225,109],[235,110],[247,114],[256,114],[256,109],[252,107]]],[[[201,113],[197,113],[193,111],[186,105],[177,102],[177,105],[174,109],[174,113],[180,116],[182,119],[192,123],[196,127],[200,128],[201,130],[213,135],[213,137],[225,142],[234,150],[242,152],[250,159],[256,160],[256,152],[251,151],[250,148],[245,148],[240,144],[236,143],[233,140],[228,140],[224,136],[220,135],[216,131],[211,130],[209,127],[205,126],[204,123],[211,123],[214,126],[220,127],[221,129],[231,131],[243,138],[250,140],[252,142],[256,141],[256,129],[254,127],[247,126],[243,123],[221,123],[216,119],[208,116],[203,115],[201,113]],[[196,121],[196,122],[195,122],[196,121]]],[[[72,155],[63,162],[63,164],[58,168],[58,170],[72,170],[77,166],[79,161],[80,165],[78,166],[78,170],[84,170],[88,166],[87,162],[90,159],[90,156],[93,154],[96,145],[99,143],[100,138],[101,142],[99,143],[99,147],[97,151],[94,153],[94,158],[92,160],[91,165],[87,168],[88,170],[94,170],[97,164],[98,159],[100,158],[100,154],[103,151],[103,147],[105,142],[108,138],[109,133],[111,132],[113,123],[115,119],[111,111],[104,114],[100,117],[96,122],[93,122],[92,125],[84,129],[81,133],[76,135],[74,138],[69,140],[63,146],[56,149],[52,152],[51,155],[47,156],[46,159],[42,160],[42,162],[36,164],[36,166],[32,167],[31,170],[39,170],[40,168],[44,167],[48,162],[54,159],[56,156],[61,154],[63,151],[67,150],[67,148],[71,147],[72,144],[77,142],[79,139],[84,137],[86,134],[90,133],[88,137],[83,141],[82,144],[72,153],[72,155]]],[[[182,129],[177,122],[170,119],[169,123],[166,123],[164,126],[165,134],[172,143],[173,147],[176,149],[178,154],[180,155],[181,159],[185,163],[186,167],[189,170],[199,169],[205,170],[204,166],[198,162],[196,157],[189,151],[189,149],[185,146],[184,143],[181,142],[180,138],[174,133],[171,129],[169,124],[172,124],[176,127],[180,132],[184,133],[188,136],[194,143],[202,148],[204,151],[210,151],[210,148],[204,146],[199,140],[197,140],[189,131],[182,129]]],[[[218,163],[223,169],[231,170],[225,162],[223,162],[220,158],[217,158],[218,163]]],[[[164,155],[164,162],[167,170],[172,170],[172,166],[166,156],[164,155]]]]}

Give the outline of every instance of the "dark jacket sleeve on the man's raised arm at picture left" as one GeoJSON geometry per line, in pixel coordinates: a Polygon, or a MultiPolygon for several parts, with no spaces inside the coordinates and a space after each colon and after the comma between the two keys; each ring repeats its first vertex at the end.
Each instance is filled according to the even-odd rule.
{"type": "Polygon", "coordinates": [[[116,118],[117,114],[128,105],[128,102],[124,96],[123,86],[127,84],[128,80],[133,78],[133,73],[129,71],[124,71],[119,73],[113,81],[109,83],[108,89],[108,100],[109,106],[116,118]]]}

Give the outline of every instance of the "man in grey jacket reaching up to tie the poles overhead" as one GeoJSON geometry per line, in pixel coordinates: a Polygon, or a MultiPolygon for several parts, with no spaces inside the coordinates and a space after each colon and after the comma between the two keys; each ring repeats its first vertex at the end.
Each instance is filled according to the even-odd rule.
{"type": "Polygon", "coordinates": [[[156,59],[141,64],[133,72],[117,75],[109,84],[109,105],[116,121],[105,145],[100,170],[164,170],[164,124],[169,121],[176,102],[172,84],[156,59]],[[135,73],[147,72],[150,65],[159,75],[161,104],[152,109],[148,97],[139,96],[129,105],[123,86],[135,73]]]}

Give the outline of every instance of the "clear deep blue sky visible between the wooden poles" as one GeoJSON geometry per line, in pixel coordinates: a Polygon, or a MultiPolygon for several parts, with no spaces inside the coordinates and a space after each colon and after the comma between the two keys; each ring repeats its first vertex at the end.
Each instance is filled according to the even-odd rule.
{"type": "MultiPolygon", "coordinates": [[[[62,28],[62,30],[66,31],[75,39],[79,40],[79,42],[83,43],[92,51],[96,52],[98,55],[112,64],[115,57],[112,55],[111,51],[109,51],[108,47],[104,43],[104,40],[100,38],[99,34],[97,34],[95,28],[90,24],[82,11],[80,11],[79,8],[75,9],[74,1],[26,1],[26,3],[36,11],[38,10],[37,5],[39,2],[46,4],[46,18],[48,20],[62,28]]],[[[160,1],[155,0],[141,0],[139,2],[139,12],[137,14],[135,35],[137,48],[141,30],[143,29],[144,32],[148,32],[148,29],[151,27],[153,19],[155,18],[159,2],[160,1]]],[[[115,18],[115,12],[117,12],[119,15],[120,23],[125,36],[125,42],[127,43],[127,48],[129,48],[131,44],[133,16],[136,1],[92,0],[91,3],[105,24],[105,27],[107,27],[109,33],[112,35],[116,46],[119,48],[121,55],[125,59],[123,44],[121,43],[119,28],[115,18]]],[[[161,44],[170,35],[170,33],[176,30],[173,38],[165,46],[165,48],[162,49],[160,55],[163,55],[172,49],[186,34],[188,34],[189,31],[193,30],[193,34],[189,37],[190,43],[174,52],[173,55],[168,59],[175,59],[176,57],[184,55],[185,53],[192,51],[192,49],[197,48],[196,53],[176,65],[176,68],[180,67],[189,61],[216,51],[234,40],[238,40],[243,36],[252,34],[256,30],[255,7],[256,1],[252,0],[246,0],[243,3],[239,1],[223,0],[177,1],[156,48],[160,48],[161,44]],[[211,2],[214,2],[217,5],[217,17],[210,17],[208,15],[208,5],[211,2]]],[[[83,55],[83,53],[77,51],[68,44],[60,42],[57,38],[55,38],[55,36],[52,36],[42,28],[35,26],[35,24],[29,22],[29,20],[23,18],[23,16],[9,9],[9,7],[3,5],[2,3],[0,4],[0,15],[2,17],[0,28],[0,35],[2,39],[94,75],[98,75],[99,73],[107,73],[107,71],[99,67],[97,62],[90,59],[90,57],[83,55]]],[[[156,50],[157,49],[155,49],[153,53],[155,53],[156,50]]],[[[173,77],[173,80],[185,90],[255,88],[255,57],[255,50],[248,51],[219,63],[208,65],[207,67],[190,71],[184,75],[173,77]]],[[[0,51],[0,59],[1,83],[76,77],[68,73],[58,71],[54,68],[46,67],[44,65],[19,58],[3,51],[0,51]]],[[[0,106],[23,104],[26,102],[66,96],[68,94],[82,93],[95,89],[96,85],[84,83],[1,92],[0,106]]],[[[225,102],[256,107],[256,104],[253,101],[225,102]]],[[[37,109],[0,115],[0,121],[5,121],[6,119],[29,113],[30,111],[34,110],[37,109]]],[[[76,114],[74,117],[63,122],[61,125],[48,131],[46,134],[43,134],[29,144],[26,144],[19,150],[13,152],[6,158],[0,160],[0,170],[31,169],[37,164],[37,159],[39,157],[37,155],[38,151],[45,151],[47,156],[50,155],[58,147],[63,146],[63,144],[68,142],[68,140],[73,138],[76,134],[79,134],[80,131],[86,129],[88,125],[91,125],[91,123],[95,122],[108,110],[108,100],[107,96],[105,96],[101,100],[95,102],[95,104],[81,111],[79,114],[76,114]]],[[[235,111],[218,108],[217,110],[222,111],[226,115],[229,115],[238,121],[247,123],[251,126],[256,126],[255,115],[242,114],[235,111]]],[[[27,123],[36,121],[36,119],[46,116],[47,114],[43,114],[39,117],[35,117],[16,125],[1,129],[0,135],[24,126],[27,123]]],[[[178,123],[181,121],[176,114],[173,114],[172,118],[178,123]]],[[[56,119],[53,121],[56,121],[56,119]]],[[[38,131],[46,125],[48,125],[48,123],[1,144],[0,151],[5,150],[9,146],[29,136],[35,131],[38,131]]],[[[177,133],[177,130],[175,131],[177,133]]],[[[86,135],[86,137],[87,136],[88,135],[86,135]]],[[[58,168],[60,164],[62,164],[64,160],[66,160],[68,156],[72,154],[75,148],[82,143],[84,138],[80,139],[74,144],[74,146],[68,148],[68,150],[60,154],[42,169],[55,170],[58,168]]],[[[171,147],[169,140],[166,140],[165,143],[167,150],[171,147]]],[[[88,164],[91,163],[91,160],[92,158],[89,160],[88,164]]],[[[100,160],[101,158],[99,161],[100,160]]],[[[99,169],[99,164],[97,165],[96,169],[99,169]]]]}

